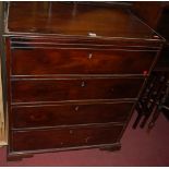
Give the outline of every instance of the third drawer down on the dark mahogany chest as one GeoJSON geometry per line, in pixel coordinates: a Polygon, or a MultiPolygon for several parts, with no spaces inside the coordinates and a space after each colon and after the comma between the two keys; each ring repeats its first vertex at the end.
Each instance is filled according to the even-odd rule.
{"type": "Polygon", "coordinates": [[[12,128],[124,122],[133,102],[13,107],[12,128]]]}

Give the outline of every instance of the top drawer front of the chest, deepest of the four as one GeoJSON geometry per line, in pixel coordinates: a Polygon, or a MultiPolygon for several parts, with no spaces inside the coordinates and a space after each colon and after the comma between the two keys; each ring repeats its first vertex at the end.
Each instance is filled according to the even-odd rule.
{"type": "Polygon", "coordinates": [[[12,74],[143,74],[155,56],[144,50],[12,49],[12,74]]]}

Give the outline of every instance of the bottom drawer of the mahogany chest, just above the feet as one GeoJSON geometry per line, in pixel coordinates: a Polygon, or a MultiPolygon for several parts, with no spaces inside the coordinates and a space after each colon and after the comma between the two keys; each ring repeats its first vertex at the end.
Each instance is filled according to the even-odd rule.
{"type": "Polygon", "coordinates": [[[100,125],[65,129],[13,131],[13,152],[52,149],[116,143],[123,126],[100,125]]]}

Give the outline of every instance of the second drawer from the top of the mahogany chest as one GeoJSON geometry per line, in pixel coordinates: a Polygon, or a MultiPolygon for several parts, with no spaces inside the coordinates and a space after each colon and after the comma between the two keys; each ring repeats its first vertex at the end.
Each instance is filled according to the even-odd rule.
{"type": "Polygon", "coordinates": [[[144,79],[56,79],[13,80],[12,101],[64,101],[135,98],[144,79]]]}

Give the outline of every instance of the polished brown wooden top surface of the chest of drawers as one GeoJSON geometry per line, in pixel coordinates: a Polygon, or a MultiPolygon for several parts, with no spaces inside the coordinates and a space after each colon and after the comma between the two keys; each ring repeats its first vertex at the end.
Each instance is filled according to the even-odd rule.
{"type": "Polygon", "coordinates": [[[81,2],[10,2],[5,33],[154,39],[126,8],[81,2]]]}

